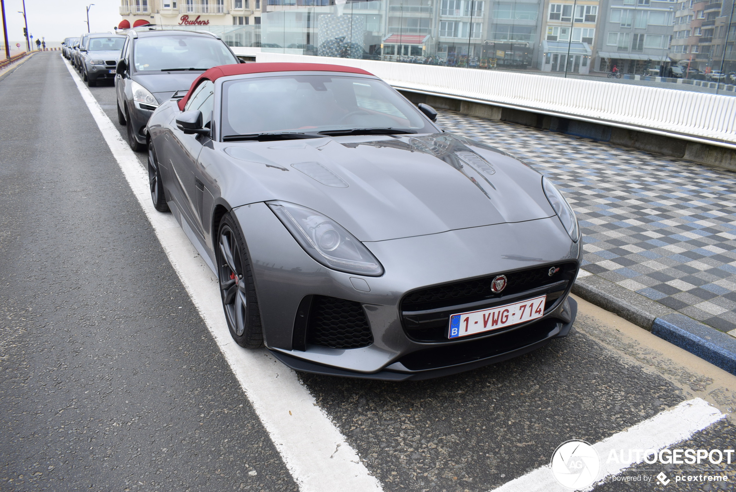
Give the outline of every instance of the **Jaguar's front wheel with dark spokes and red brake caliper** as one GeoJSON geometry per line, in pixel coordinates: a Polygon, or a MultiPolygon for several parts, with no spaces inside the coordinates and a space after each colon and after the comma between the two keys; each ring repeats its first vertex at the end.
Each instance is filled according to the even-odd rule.
{"type": "Polygon", "coordinates": [[[263,346],[258,298],[243,235],[230,213],[224,215],[220,223],[216,260],[222,307],[230,335],[239,346],[258,349],[263,346]]]}

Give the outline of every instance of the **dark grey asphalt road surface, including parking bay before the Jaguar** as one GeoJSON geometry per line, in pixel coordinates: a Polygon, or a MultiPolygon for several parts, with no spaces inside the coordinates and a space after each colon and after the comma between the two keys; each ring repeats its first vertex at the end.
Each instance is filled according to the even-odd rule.
{"type": "MultiPolygon", "coordinates": [[[[0,489],[295,490],[58,54],[0,82],[0,135],[0,489]]],[[[386,491],[488,491],[694,396],[736,407],[735,377],[585,302],[568,338],[465,374],[300,377],[386,491]]]]}

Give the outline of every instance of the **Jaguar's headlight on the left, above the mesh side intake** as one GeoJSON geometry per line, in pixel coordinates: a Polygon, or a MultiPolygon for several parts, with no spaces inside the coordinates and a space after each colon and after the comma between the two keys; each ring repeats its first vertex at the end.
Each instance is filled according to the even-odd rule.
{"type": "Polygon", "coordinates": [[[378,277],[383,266],[350,232],[319,212],[289,202],[267,202],[273,213],[322,265],[349,274],[378,277]]]}

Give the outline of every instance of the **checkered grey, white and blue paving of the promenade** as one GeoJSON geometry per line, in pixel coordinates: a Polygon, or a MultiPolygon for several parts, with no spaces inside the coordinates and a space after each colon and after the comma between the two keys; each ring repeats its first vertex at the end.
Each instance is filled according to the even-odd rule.
{"type": "Polygon", "coordinates": [[[585,270],[722,331],[736,329],[735,173],[451,111],[437,121],[558,185],[580,221],[585,270]]]}

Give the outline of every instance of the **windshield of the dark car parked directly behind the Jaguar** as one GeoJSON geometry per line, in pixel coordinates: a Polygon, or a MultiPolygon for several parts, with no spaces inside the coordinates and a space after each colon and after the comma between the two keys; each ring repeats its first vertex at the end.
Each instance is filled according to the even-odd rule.
{"type": "Polygon", "coordinates": [[[217,65],[238,63],[225,43],[198,36],[154,36],[138,39],[133,63],[136,71],[168,69],[207,70],[217,65]]]}

